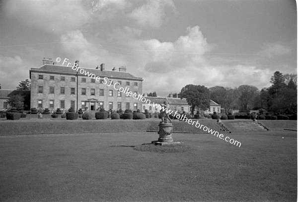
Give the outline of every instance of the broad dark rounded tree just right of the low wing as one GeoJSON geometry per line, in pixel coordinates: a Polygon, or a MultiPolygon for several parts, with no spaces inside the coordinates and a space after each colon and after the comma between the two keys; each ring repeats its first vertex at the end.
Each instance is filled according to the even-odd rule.
{"type": "Polygon", "coordinates": [[[186,85],[181,89],[181,99],[186,98],[191,105],[191,113],[194,114],[195,108],[201,108],[204,111],[210,106],[210,92],[205,86],[186,85]]]}

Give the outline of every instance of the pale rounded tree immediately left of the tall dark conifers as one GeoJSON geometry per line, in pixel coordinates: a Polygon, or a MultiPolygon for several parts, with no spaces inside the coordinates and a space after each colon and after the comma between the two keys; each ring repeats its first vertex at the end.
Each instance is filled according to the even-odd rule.
{"type": "Polygon", "coordinates": [[[259,90],[257,87],[242,85],[238,87],[238,104],[240,109],[247,110],[253,108],[253,101],[258,96],[259,90]]]}

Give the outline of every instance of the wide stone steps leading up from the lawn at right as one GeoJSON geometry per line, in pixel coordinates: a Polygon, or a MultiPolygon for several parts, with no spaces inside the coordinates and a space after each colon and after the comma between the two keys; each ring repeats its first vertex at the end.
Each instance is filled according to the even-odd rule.
{"type": "Polygon", "coordinates": [[[264,126],[255,122],[248,121],[223,121],[224,127],[230,132],[264,132],[267,131],[264,126]]]}

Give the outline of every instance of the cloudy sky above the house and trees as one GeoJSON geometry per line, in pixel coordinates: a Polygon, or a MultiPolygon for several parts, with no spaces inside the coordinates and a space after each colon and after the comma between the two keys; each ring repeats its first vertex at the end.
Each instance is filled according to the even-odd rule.
{"type": "MultiPolygon", "coordinates": [[[[295,0],[0,0],[0,84],[44,57],[125,66],[143,93],[188,85],[269,87],[297,73],[295,0]]],[[[62,65],[62,61],[57,63],[62,65]]]]}

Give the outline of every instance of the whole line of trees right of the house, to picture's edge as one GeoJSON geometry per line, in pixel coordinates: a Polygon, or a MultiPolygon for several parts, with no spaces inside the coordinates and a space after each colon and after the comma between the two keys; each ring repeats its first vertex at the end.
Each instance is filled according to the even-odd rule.
{"type": "Polygon", "coordinates": [[[182,98],[186,98],[195,109],[207,110],[210,100],[224,107],[226,112],[231,109],[249,110],[264,108],[269,112],[281,114],[297,113],[297,74],[275,72],[270,79],[271,86],[261,91],[250,85],[237,88],[215,86],[207,88],[200,85],[187,85],[181,90],[182,98]]]}

